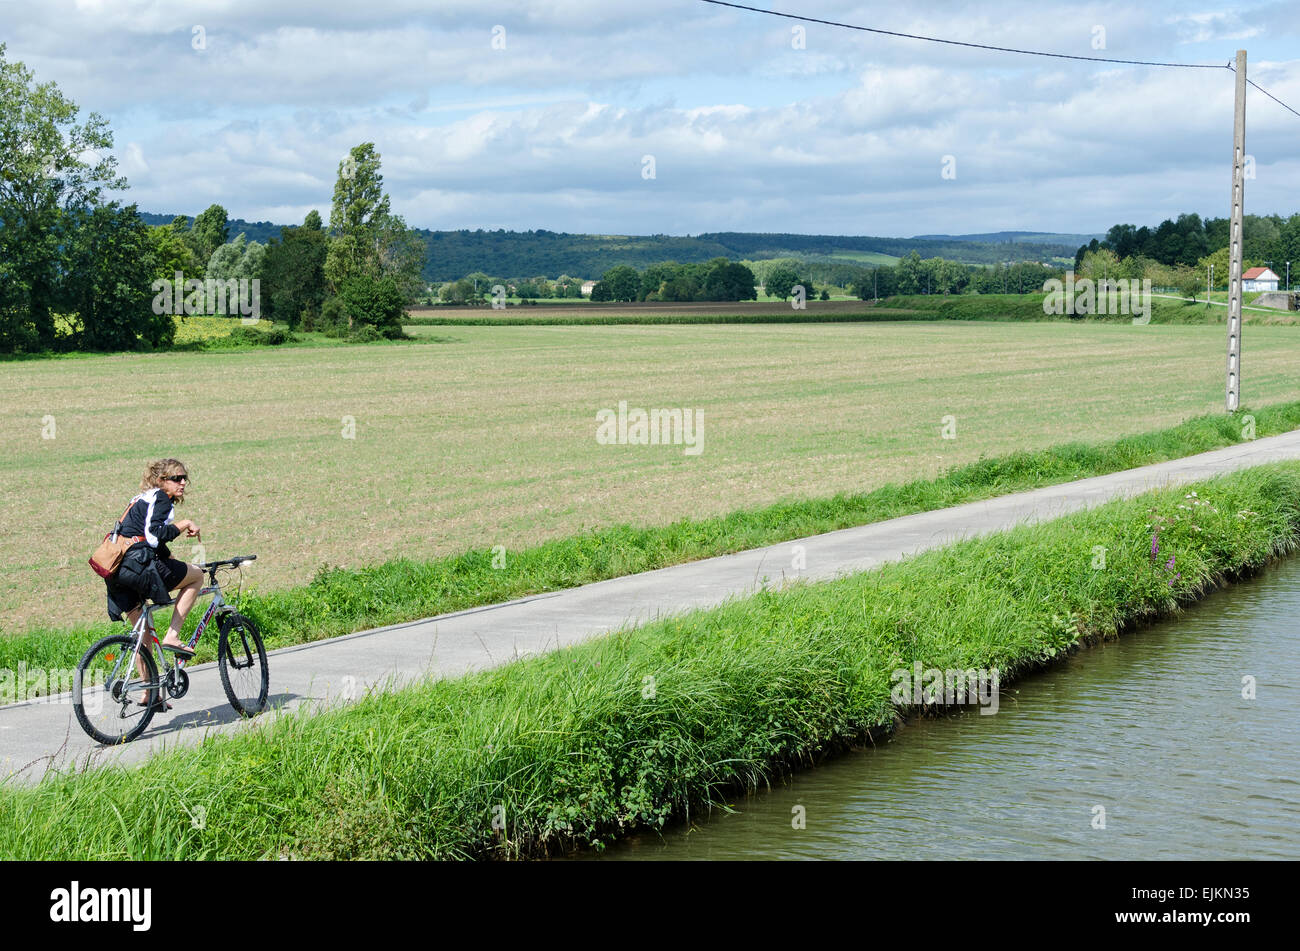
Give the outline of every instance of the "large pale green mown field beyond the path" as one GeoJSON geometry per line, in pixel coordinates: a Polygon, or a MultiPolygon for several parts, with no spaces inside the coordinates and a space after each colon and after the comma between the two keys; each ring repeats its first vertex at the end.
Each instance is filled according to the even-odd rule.
{"type": "MultiPolygon", "coordinates": [[[[425,346],[5,364],[0,624],[101,620],[86,566],[147,460],[194,474],[208,557],[261,590],[322,564],[507,551],[930,477],[1222,407],[1216,326],[854,323],[417,329],[425,346]],[[606,446],[620,400],[702,413],[703,450],[606,446]],[[956,439],[942,439],[942,417],[956,439]],[[52,417],[52,418],[51,418],[52,417]],[[355,438],[348,418],[355,424],[355,438]],[[52,435],[53,438],[43,438],[52,435]]],[[[1296,399],[1300,336],[1245,336],[1243,398],[1296,399]]],[[[176,553],[191,557],[187,543],[176,553]]]]}

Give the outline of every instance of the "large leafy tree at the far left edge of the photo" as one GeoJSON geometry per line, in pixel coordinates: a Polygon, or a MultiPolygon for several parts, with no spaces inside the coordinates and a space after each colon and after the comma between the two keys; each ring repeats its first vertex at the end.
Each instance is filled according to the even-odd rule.
{"type": "Polygon", "coordinates": [[[108,121],[78,112],[0,43],[0,349],[53,348],[73,217],[126,187],[108,121]]]}

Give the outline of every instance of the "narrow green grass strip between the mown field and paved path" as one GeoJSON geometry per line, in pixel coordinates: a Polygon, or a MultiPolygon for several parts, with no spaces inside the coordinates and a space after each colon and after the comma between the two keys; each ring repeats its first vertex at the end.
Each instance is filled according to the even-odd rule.
{"type": "MultiPolygon", "coordinates": [[[[1300,427],[1300,403],[1204,416],[1100,446],[1067,443],[985,459],[937,479],[870,492],[792,500],[671,525],[618,525],[519,552],[480,550],[432,561],[398,559],[361,569],[325,569],[308,585],[250,594],[240,609],[257,621],[269,646],[306,643],[1232,446],[1242,440],[1247,414],[1254,418],[1257,437],[1300,427]]],[[[192,612],[187,630],[200,616],[202,607],[192,612]]],[[[164,617],[160,613],[160,625],[164,617]]],[[[16,669],[20,661],[38,670],[75,666],[86,647],[113,626],[38,629],[0,638],[0,668],[16,669]]],[[[205,637],[199,659],[211,660],[214,647],[216,639],[205,637]]]]}

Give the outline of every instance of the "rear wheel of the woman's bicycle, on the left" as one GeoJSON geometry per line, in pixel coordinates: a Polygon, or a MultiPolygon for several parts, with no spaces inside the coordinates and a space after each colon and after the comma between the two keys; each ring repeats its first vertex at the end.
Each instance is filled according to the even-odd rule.
{"type": "Polygon", "coordinates": [[[114,746],[139,737],[159,702],[159,672],[153,655],[140,651],[133,663],[135,638],[112,634],[96,640],[82,656],[73,678],[73,712],[82,729],[100,743],[114,746]],[[139,705],[139,698],[147,705],[139,705]]]}

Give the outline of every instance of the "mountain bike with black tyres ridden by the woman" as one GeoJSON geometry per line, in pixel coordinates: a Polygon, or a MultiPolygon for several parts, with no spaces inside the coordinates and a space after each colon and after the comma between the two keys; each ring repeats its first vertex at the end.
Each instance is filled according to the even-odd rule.
{"type": "MultiPolygon", "coordinates": [[[[237,611],[239,594],[243,591],[243,572],[239,574],[239,591],[235,592],[234,603],[222,595],[217,572],[238,569],[256,557],[240,555],[199,565],[208,573],[208,587],[202,589],[199,596],[211,594],[212,604],[186,642],[186,647],[192,651],[208,622],[216,617],[221,687],[230,705],[243,717],[256,716],[266,708],[270,689],[266,648],[261,643],[257,625],[237,611]]],[[[135,739],[150,725],[153,715],[166,708],[168,698],[179,700],[190,690],[190,674],[185,670],[187,661],[173,661],[170,652],[160,646],[153,628],[153,612],[160,607],[166,605],[144,604],[130,634],[110,634],[96,640],[77,665],[73,677],[73,711],[77,722],[92,739],[105,746],[135,739]],[[164,670],[161,676],[159,663],[164,670]],[[142,695],[143,700],[139,699],[142,695]]]]}

